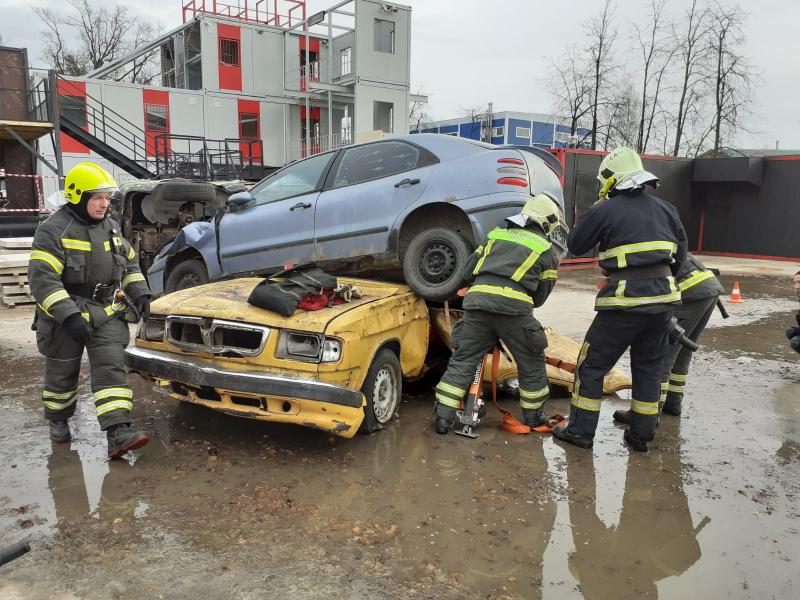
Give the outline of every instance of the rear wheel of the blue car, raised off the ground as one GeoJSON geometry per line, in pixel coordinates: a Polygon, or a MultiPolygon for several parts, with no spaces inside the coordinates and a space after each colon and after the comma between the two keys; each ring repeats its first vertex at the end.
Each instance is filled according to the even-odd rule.
{"type": "Polygon", "coordinates": [[[414,292],[432,302],[449,300],[463,286],[472,250],[457,231],[434,227],[411,240],[403,257],[403,277],[414,292]]]}

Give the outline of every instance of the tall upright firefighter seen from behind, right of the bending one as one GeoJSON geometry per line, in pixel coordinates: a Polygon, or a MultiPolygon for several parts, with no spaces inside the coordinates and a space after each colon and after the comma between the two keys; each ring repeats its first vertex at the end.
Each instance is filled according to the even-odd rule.
{"type": "Polygon", "coordinates": [[[646,452],[658,419],[668,324],[681,300],[674,275],[686,260],[686,233],[675,207],[644,191],[659,180],[630,148],[609,153],[597,178],[600,200],[578,222],[568,245],[579,256],[599,244],[608,280],[597,294],[598,312],[578,356],[568,425],[553,435],[592,447],[603,378],[630,348],[633,400],[624,437],[634,450],[646,452]]]}

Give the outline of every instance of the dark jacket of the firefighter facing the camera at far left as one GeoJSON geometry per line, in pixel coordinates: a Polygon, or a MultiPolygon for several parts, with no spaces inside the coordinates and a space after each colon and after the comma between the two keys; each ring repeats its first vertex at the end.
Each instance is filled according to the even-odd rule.
{"type": "Polygon", "coordinates": [[[28,265],[31,293],[39,318],[64,319],[75,313],[94,327],[124,311],[112,302],[117,286],[135,300],[149,294],[133,250],[119,225],[106,217],[88,224],[62,207],[39,225],[28,265]],[[92,299],[98,284],[108,285],[92,299]]]}

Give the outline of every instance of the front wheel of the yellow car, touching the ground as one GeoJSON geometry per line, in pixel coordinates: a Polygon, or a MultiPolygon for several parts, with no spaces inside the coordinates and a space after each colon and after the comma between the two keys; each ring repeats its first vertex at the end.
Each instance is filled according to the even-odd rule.
{"type": "Polygon", "coordinates": [[[395,420],[403,393],[403,373],[394,352],[388,348],[378,351],[369,366],[361,392],[367,405],[359,431],[372,433],[395,420]]]}

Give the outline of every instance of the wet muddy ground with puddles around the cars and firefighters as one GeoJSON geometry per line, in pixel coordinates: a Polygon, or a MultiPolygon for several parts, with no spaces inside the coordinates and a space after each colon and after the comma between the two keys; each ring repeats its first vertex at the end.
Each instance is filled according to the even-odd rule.
{"type": "MultiPolygon", "coordinates": [[[[437,436],[424,385],[395,425],[344,440],[131,377],[153,439],[109,463],[86,380],[74,441],[51,445],[30,311],[0,311],[0,546],[33,548],[0,567],[0,598],[796,598],[797,302],[786,277],[734,276],[747,301],[712,320],[684,415],[646,455],[622,444],[619,397],[583,451],[491,412],[477,440],[437,436]]],[[[540,318],[580,338],[595,281],[564,274],[540,318]]]]}

